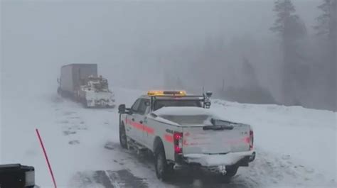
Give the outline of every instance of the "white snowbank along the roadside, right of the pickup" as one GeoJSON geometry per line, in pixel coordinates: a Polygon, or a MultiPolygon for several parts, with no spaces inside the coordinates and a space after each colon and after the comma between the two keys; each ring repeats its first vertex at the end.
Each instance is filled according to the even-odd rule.
{"type": "Polygon", "coordinates": [[[309,171],[316,170],[326,181],[336,182],[336,112],[222,100],[214,100],[211,110],[229,121],[250,124],[258,148],[289,157],[309,171]]]}

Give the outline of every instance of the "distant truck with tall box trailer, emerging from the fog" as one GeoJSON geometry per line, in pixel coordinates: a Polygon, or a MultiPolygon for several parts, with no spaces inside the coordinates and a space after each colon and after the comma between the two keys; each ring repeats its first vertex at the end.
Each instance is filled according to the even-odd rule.
{"type": "Polygon", "coordinates": [[[97,75],[97,64],[64,65],[58,83],[58,94],[79,101],[85,107],[115,106],[107,79],[97,75]]]}

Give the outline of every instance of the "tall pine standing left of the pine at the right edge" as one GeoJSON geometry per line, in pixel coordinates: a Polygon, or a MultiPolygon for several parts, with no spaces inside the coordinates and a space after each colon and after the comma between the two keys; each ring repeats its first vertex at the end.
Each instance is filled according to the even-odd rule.
{"type": "Polygon", "coordinates": [[[283,51],[283,95],[285,104],[294,104],[298,94],[299,80],[303,74],[301,65],[304,64],[302,43],[306,39],[306,26],[296,15],[296,9],[291,0],[276,0],[274,10],[277,19],[270,30],[277,33],[282,40],[283,51]]]}

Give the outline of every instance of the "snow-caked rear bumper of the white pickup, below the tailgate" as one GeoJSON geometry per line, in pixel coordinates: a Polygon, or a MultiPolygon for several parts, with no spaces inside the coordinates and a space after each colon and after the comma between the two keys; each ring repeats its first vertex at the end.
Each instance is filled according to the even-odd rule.
{"type": "Polygon", "coordinates": [[[227,153],[221,155],[188,154],[176,157],[177,166],[199,166],[213,168],[219,166],[248,166],[255,160],[255,151],[227,153]]]}

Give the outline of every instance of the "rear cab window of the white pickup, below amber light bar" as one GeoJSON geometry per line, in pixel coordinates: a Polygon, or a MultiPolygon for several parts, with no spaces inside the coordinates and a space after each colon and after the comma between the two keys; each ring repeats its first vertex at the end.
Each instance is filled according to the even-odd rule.
{"type": "Polygon", "coordinates": [[[154,111],[164,106],[194,106],[202,107],[199,100],[183,100],[183,99],[163,99],[154,101],[154,111]]]}

